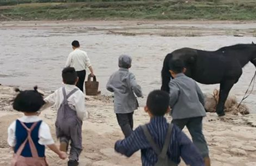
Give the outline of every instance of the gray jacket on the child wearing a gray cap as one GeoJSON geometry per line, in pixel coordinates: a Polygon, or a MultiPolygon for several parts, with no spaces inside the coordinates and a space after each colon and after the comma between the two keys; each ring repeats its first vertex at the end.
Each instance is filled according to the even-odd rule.
{"type": "Polygon", "coordinates": [[[120,68],[110,76],[106,88],[114,92],[114,110],[116,114],[127,114],[138,109],[137,97],[142,97],[141,87],[135,76],[126,68],[120,68]]]}

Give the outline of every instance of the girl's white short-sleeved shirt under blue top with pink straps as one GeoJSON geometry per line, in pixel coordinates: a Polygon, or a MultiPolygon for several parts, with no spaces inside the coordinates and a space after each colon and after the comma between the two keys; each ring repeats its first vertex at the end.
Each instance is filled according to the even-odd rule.
{"type": "MultiPolygon", "coordinates": [[[[19,121],[24,123],[33,123],[41,121],[42,119],[38,116],[23,116],[21,118],[18,118],[19,121]]],[[[16,144],[16,137],[15,137],[15,131],[16,131],[16,121],[14,121],[10,126],[8,127],[8,144],[12,147],[16,144]]],[[[38,143],[40,145],[52,145],[54,144],[54,140],[52,138],[52,134],[50,133],[50,128],[48,124],[42,121],[39,131],[38,131],[38,143]]]]}

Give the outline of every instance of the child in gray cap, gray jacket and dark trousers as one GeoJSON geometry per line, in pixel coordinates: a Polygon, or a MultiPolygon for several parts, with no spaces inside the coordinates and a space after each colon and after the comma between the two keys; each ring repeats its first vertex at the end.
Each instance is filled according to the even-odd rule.
{"type": "Polygon", "coordinates": [[[129,72],[132,57],[121,55],[118,66],[120,69],[110,76],[106,88],[114,93],[114,111],[117,121],[124,136],[128,137],[133,132],[133,112],[139,106],[135,94],[137,97],[143,97],[143,94],[134,74],[129,72]]]}

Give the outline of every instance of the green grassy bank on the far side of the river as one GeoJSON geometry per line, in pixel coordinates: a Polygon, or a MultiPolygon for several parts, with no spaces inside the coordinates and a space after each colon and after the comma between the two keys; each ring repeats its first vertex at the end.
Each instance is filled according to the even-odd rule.
{"type": "Polygon", "coordinates": [[[256,19],[256,0],[0,0],[0,5],[0,20],[256,19]]]}

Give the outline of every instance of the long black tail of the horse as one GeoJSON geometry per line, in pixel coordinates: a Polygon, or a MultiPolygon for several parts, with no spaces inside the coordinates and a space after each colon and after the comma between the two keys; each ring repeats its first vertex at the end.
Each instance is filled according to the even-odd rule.
{"type": "Polygon", "coordinates": [[[162,68],[162,86],[161,86],[161,90],[162,91],[166,91],[169,93],[169,81],[170,81],[170,72],[169,72],[169,61],[170,59],[173,57],[172,53],[167,54],[166,57],[164,58],[163,61],[163,68],[162,68]]]}

